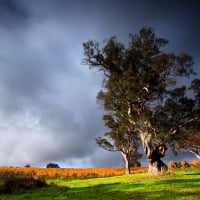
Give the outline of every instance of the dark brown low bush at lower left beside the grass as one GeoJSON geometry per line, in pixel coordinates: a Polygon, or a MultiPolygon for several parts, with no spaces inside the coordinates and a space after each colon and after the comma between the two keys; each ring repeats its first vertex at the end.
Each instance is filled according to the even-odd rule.
{"type": "Polygon", "coordinates": [[[2,186],[2,192],[6,194],[11,194],[17,191],[41,188],[46,185],[47,184],[43,179],[33,177],[13,177],[4,181],[2,186]]]}

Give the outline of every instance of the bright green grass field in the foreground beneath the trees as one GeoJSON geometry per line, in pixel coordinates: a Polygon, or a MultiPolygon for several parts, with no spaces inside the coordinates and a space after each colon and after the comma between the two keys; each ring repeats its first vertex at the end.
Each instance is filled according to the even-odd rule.
{"type": "Polygon", "coordinates": [[[108,178],[49,179],[49,187],[12,195],[0,200],[197,200],[200,199],[200,172],[177,169],[173,175],[150,177],[133,174],[108,178]]]}

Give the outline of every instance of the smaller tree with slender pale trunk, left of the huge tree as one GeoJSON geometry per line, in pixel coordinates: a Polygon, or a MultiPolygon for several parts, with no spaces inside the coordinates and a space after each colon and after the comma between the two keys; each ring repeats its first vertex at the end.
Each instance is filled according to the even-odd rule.
{"type": "Polygon", "coordinates": [[[139,138],[126,124],[123,124],[122,120],[120,121],[119,117],[116,117],[116,114],[115,119],[112,115],[104,115],[103,119],[110,131],[105,133],[105,138],[96,138],[96,142],[107,151],[119,151],[123,158],[125,173],[130,174],[131,164],[138,163],[138,159],[142,157],[138,152],[139,138]]]}

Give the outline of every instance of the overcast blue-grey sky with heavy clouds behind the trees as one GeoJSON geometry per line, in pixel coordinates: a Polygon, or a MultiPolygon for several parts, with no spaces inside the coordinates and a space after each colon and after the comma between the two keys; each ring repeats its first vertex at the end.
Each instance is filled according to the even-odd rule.
{"type": "Polygon", "coordinates": [[[150,26],[199,77],[199,20],[199,0],[0,0],[0,165],[120,166],[94,141],[102,77],[81,64],[82,43],[150,26]]]}

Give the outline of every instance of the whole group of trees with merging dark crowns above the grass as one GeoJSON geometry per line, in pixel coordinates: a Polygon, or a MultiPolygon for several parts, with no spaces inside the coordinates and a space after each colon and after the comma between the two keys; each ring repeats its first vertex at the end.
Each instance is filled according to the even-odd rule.
{"type": "Polygon", "coordinates": [[[141,156],[141,145],[149,173],[167,169],[161,158],[168,146],[199,158],[200,80],[181,84],[195,75],[193,58],[163,51],[168,41],[157,37],[152,28],[129,36],[127,46],[116,37],[103,44],[83,43],[84,64],[104,73],[97,99],[109,131],[96,139],[97,144],[120,151],[127,174],[131,159],[141,156]]]}

